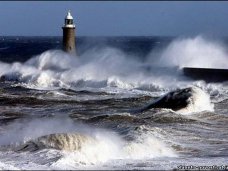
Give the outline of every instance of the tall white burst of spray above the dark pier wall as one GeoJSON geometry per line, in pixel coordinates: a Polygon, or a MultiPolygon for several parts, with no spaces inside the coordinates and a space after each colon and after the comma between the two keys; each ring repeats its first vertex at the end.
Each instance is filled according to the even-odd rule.
{"type": "Polygon", "coordinates": [[[159,66],[228,68],[226,46],[203,36],[177,38],[157,57],[155,64],[159,66]]]}

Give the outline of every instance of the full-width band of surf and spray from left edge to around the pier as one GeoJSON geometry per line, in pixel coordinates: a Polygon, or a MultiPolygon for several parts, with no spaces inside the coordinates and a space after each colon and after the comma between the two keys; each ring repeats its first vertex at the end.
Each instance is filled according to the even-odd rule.
{"type": "Polygon", "coordinates": [[[159,67],[217,67],[228,68],[227,51],[221,42],[206,39],[178,38],[160,53],[152,53],[143,61],[115,48],[91,49],[80,56],[60,50],[49,50],[25,63],[0,63],[0,76],[19,81],[36,89],[94,88],[110,90],[146,90],[161,92],[198,85],[211,94],[223,94],[227,86],[203,84],[185,78],[181,70],[159,67]],[[61,62],[60,62],[61,61],[61,62]],[[200,61],[200,62],[199,62],[200,61]],[[147,69],[147,68],[152,69],[147,69]],[[156,67],[153,69],[153,67],[156,67]]]}

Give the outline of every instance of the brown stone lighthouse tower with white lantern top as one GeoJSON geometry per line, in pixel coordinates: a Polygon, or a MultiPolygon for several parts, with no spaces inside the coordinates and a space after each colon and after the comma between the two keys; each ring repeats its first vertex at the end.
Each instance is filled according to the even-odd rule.
{"type": "Polygon", "coordinates": [[[65,24],[63,28],[63,50],[68,53],[76,54],[75,49],[75,25],[73,17],[68,11],[65,17],[65,24]]]}

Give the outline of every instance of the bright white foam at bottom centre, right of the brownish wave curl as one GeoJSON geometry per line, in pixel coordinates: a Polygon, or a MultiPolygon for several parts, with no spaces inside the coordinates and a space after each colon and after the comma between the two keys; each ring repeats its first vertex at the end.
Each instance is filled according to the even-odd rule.
{"type": "Polygon", "coordinates": [[[85,144],[80,151],[65,153],[52,166],[57,168],[99,165],[110,160],[135,160],[156,157],[177,157],[177,154],[161,140],[153,136],[139,136],[127,142],[115,134],[97,133],[96,142],[85,144]]]}

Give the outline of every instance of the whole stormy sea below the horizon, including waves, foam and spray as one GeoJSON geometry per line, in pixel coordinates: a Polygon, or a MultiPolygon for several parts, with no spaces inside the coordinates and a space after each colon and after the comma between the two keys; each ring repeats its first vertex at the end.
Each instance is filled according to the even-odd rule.
{"type": "Polygon", "coordinates": [[[226,42],[79,37],[70,55],[61,37],[0,37],[0,169],[225,170],[228,84],[181,68],[228,68],[226,42]],[[181,110],[131,113],[186,87],[181,110]]]}

